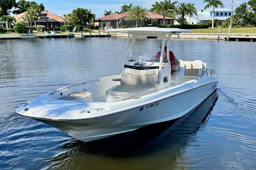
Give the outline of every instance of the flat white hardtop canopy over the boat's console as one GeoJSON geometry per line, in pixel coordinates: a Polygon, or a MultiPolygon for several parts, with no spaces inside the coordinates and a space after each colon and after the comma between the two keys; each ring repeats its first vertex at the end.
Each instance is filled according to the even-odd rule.
{"type": "Polygon", "coordinates": [[[179,28],[158,28],[158,27],[138,27],[138,28],[122,28],[122,29],[109,29],[106,32],[122,32],[122,33],[180,33],[180,32],[192,32],[191,30],[179,29],[179,28]]]}

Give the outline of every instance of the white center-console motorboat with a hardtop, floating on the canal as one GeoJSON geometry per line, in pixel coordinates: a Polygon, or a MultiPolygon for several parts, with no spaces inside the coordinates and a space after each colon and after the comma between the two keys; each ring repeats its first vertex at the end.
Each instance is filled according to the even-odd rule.
{"type": "Polygon", "coordinates": [[[17,114],[88,142],[178,119],[217,89],[215,72],[201,61],[175,59],[170,66],[165,50],[170,49],[171,36],[191,31],[156,27],[108,31],[128,34],[121,75],[43,94],[20,105],[17,114]],[[155,45],[138,48],[143,37],[148,37],[147,44],[153,41],[149,37],[158,37],[154,40],[161,43],[159,58],[155,45]]]}

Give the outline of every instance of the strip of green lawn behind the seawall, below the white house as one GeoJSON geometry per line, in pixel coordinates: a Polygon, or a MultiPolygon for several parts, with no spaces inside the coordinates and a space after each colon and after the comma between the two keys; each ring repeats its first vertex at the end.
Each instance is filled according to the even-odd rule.
{"type": "MultiPolygon", "coordinates": [[[[218,33],[219,28],[191,29],[193,33],[218,33]]],[[[221,28],[221,33],[228,33],[228,28],[221,28]]],[[[231,28],[231,33],[255,33],[256,27],[252,28],[231,28]]]]}

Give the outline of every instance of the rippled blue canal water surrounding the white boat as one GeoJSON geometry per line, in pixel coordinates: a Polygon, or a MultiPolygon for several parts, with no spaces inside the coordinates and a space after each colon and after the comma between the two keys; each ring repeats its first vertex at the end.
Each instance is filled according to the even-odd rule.
{"type": "Polygon", "coordinates": [[[255,168],[254,42],[172,41],[179,59],[203,60],[220,81],[216,93],[176,122],[84,143],[15,114],[19,104],[42,93],[119,74],[125,43],[125,38],[0,41],[0,169],[255,168]]]}

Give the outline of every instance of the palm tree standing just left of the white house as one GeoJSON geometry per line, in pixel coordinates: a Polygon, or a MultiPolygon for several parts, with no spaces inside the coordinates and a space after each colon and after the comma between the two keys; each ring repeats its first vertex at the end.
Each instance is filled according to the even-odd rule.
{"type": "Polygon", "coordinates": [[[194,6],[195,4],[192,3],[180,3],[178,5],[178,14],[181,15],[181,25],[184,24],[184,18],[185,16],[193,16],[196,15],[196,8],[194,6]]]}

